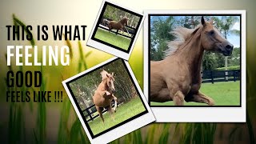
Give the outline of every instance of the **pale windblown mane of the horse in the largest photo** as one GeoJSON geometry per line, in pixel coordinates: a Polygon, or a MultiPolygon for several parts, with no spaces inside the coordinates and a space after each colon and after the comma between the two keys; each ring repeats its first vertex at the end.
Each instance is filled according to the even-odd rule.
{"type": "Polygon", "coordinates": [[[191,36],[197,32],[202,25],[196,26],[194,29],[187,29],[185,27],[179,26],[175,28],[170,34],[173,34],[174,41],[167,42],[168,49],[165,50],[165,58],[171,54],[176,54],[176,52],[181,48],[181,46],[189,39],[191,36]]]}

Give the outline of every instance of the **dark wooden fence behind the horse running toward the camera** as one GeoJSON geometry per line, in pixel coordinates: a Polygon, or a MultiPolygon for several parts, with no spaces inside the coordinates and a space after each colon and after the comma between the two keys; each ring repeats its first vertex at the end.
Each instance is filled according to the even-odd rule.
{"type": "MultiPolygon", "coordinates": [[[[117,105],[119,105],[119,102],[117,103],[117,105]]],[[[114,101],[111,102],[111,106],[114,107],[114,101]]],[[[106,113],[106,109],[104,109],[102,111],[102,114],[106,113]]],[[[86,121],[90,122],[93,121],[95,118],[97,118],[99,116],[99,114],[97,113],[96,115],[93,115],[95,112],[97,112],[95,105],[89,106],[87,107],[85,110],[82,110],[82,114],[84,114],[84,116],[86,117],[86,121]],[[84,114],[86,112],[86,114],[84,114]],[[88,119],[89,117],[89,119],[88,119]]]]}

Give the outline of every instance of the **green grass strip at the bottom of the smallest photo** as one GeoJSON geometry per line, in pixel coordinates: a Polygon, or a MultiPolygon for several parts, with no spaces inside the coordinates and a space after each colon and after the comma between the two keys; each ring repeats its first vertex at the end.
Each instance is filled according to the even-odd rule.
{"type": "Polygon", "coordinates": [[[123,50],[128,50],[130,46],[130,38],[122,37],[121,35],[111,33],[101,28],[98,28],[96,31],[95,38],[110,43],[111,45],[118,46],[123,50]]]}

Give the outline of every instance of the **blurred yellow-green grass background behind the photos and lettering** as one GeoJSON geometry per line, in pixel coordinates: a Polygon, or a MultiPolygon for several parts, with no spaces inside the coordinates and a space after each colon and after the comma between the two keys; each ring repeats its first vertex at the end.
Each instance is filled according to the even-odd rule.
{"type": "MultiPolygon", "coordinates": [[[[256,2],[254,0],[216,0],[205,2],[203,0],[163,0],[155,4],[149,1],[114,0],[122,6],[132,7],[134,10],[247,10],[246,15],[246,123],[153,123],[142,129],[135,130],[112,143],[255,143],[256,131],[256,67],[255,48],[256,33],[254,14],[256,2]]],[[[11,14],[36,25],[87,25],[86,36],[94,24],[101,2],[58,2],[45,1],[42,3],[26,0],[24,2],[7,1],[1,3],[1,28],[0,34],[0,139],[2,143],[90,143],[81,123],[78,120],[70,100],[65,97],[63,102],[55,103],[7,103],[4,78],[10,67],[6,66],[7,45],[30,45],[30,42],[6,41],[6,25],[13,24],[11,14]],[[28,5],[30,3],[30,5],[28,5]],[[61,6],[58,6],[61,5],[61,6]],[[30,8],[28,8],[30,6],[30,8]],[[91,6],[95,6],[92,9],[91,6]],[[48,7],[48,10],[45,8],[48,7]],[[74,7],[72,13],[70,7],[74,7]],[[87,14],[87,15],[86,15],[87,14]],[[86,15],[86,16],[85,16],[86,15]],[[81,21],[79,21],[81,19],[81,21]]],[[[35,32],[33,34],[36,34],[35,32]]],[[[49,39],[52,39],[51,36],[49,39]]],[[[130,66],[143,86],[142,62],[142,31],[138,36],[134,51],[130,57],[130,66]]],[[[42,45],[65,45],[67,42],[35,42],[42,45]]],[[[62,90],[61,81],[74,74],[97,65],[111,58],[110,54],[103,53],[85,46],[81,42],[82,52],[79,52],[78,42],[70,42],[73,50],[73,59],[70,66],[12,66],[12,70],[41,70],[43,71],[45,86],[43,90],[62,90]],[[90,54],[89,54],[90,53],[90,54]],[[81,55],[82,54],[82,55],[81,55]],[[86,55],[89,54],[89,55],[86,55]],[[95,58],[97,57],[97,58],[95,58]],[[81,66],[80,66],[81,65],[81,66]]],[[[242,67],[243,68],[243,67],[242,67]]],[[[24,88],[22,88],[24,90],[24,88]]]]}

